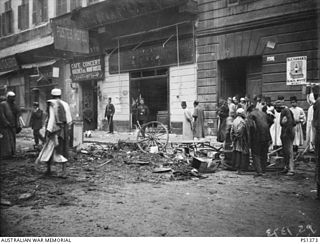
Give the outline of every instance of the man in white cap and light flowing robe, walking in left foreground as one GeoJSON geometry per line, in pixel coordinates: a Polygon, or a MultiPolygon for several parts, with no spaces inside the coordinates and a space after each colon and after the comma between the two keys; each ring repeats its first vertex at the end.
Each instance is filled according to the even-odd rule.
{"type": "Polygon", "coordinates": [[[65,163],[68,161],[69,130],[72,123],[70,107],[61,100],[61,90],[51,91],[52,99],[47,101],[48,119],[46,123],[46,143],[44,144],[36,164],[47,163],[46,174],[51,174],[52,163],[62,163],[65,174],[65,163]]]}

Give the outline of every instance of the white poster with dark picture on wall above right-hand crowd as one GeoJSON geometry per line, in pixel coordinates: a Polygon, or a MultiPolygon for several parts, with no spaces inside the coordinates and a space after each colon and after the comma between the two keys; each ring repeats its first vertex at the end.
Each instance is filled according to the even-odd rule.
{"type": "Polygon", "coordinates": [[[287,58],[287,85],[307,84],[307,56],[287,58]]]}

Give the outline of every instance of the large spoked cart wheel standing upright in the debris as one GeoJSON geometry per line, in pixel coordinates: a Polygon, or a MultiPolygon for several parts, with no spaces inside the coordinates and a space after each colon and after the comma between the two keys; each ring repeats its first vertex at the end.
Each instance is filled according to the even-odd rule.
{"type": "Polygon", "coordinates": [[[137,145],[143,152],[150,152],[151,147],[163,151],[169,141],[167,128],[158,121],[143,124],[137,135],[137,145]]]}

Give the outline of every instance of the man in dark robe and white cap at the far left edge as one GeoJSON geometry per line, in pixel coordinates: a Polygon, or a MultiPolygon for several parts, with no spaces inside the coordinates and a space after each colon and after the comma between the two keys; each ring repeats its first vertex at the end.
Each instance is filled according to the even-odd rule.
{"type": "Polygon", "coordinates": [[[7,93],[7,99],[0,103],[1,158],[11,158],[16,153],[16,134],[21,131],[20,109],[15,104],[14,92],[7,93]]]}

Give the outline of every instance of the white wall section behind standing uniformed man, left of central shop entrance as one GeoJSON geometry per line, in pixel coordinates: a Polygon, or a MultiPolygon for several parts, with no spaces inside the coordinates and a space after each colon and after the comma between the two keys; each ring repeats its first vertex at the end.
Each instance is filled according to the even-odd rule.
{"type": "Polygon", "coordinates": [[[108,98],[112,98],[115,106],[114,120],[129,121],[129,73],[110,74],[109,73],[109,57],[105,57],[105,79],[98,82],[101,97],[98,94],[98,128],[102,127],[104,119],[105,107],[108,98]]]}

